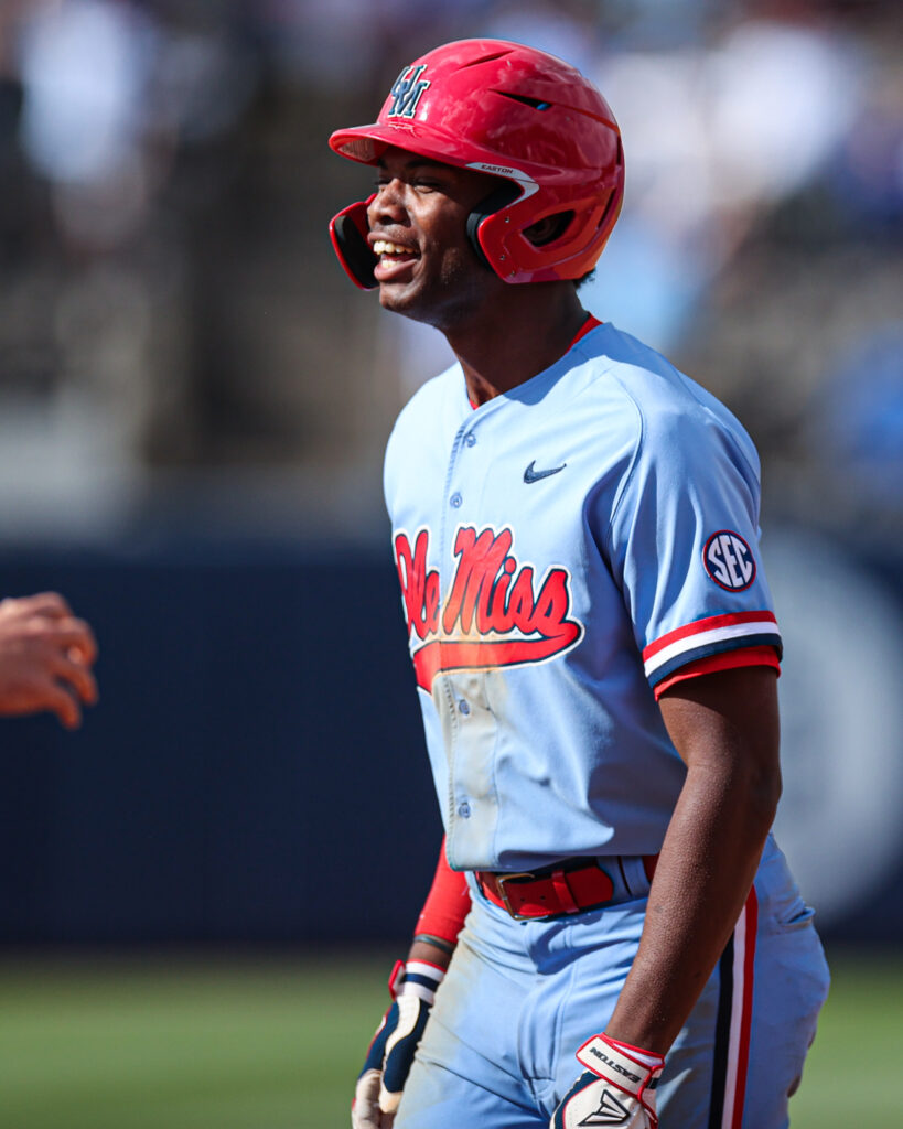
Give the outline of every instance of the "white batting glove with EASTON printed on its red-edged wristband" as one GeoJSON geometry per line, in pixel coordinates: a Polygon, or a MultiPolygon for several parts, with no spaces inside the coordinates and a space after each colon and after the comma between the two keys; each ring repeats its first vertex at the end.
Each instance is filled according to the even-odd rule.
{"type": "Polygon", "coordinates": [[[577,1051],[577,1059],[587,1073],[562,1097],[549,1129],[657,1129],[656,1086],[665,1067],[660,1054],[594,1035],[577,1051]]]}

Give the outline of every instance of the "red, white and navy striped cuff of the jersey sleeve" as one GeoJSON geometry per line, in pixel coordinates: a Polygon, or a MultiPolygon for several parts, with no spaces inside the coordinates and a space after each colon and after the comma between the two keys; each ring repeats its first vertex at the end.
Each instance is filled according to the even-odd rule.
{"type": "Polygon", "coordinates": [[[773,647],[781,656],[781,633],[773,612],[709,615],[660,636],[643,649],[646,677],[656,686],[674,671],[710,655],[742,647],[773,647]]]}

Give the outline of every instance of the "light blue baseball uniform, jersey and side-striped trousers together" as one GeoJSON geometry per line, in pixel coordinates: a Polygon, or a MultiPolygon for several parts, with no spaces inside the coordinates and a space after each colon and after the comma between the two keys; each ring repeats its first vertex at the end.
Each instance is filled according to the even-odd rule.
{"type": "MultiPolygon", "coordinates": [[[[602,325],[476,410],[457,366],[427,384],[385,487],[451,866],[590,855],[612,886],[602,908],[521,921],[468,876],[395,1126],[543,1129],[637,955],[640,856],[683,786],[655,690],[690,664],[780,653],[759,461],[718,401],[602,325]]],[[[826,988],[812,911],[769,838],[667,1057],[661,1129],[786,1129],[826,988]]]]}

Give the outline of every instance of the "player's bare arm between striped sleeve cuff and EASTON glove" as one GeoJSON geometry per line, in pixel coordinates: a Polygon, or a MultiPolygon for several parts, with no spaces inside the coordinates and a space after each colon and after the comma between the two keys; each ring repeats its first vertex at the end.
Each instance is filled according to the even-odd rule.
{"type": "Polygon", "coordinates": [[[687,765],[640,947],[606,1031],[666,1054],[730,936],[780,796],[775,672],[681,682],[661,714],[687,765]]]}

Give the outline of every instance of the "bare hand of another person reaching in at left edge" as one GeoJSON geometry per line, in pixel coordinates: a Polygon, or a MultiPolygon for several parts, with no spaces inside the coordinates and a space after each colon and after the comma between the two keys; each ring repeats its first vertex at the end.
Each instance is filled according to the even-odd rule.
{"type": "Polygon", "coordinates": [[[97,701],[97,644],[53,592],[0,601],[0,715],[55,714],[74,729],[97,701]]]}

